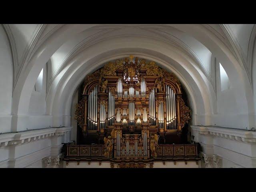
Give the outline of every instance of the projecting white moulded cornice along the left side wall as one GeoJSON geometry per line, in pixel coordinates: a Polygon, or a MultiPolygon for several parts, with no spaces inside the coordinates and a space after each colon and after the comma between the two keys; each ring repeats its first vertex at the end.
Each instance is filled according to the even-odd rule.
{"type": "Polygon", "coordinates": [[[7,133],[0,135],[0,147],[9,145],[24,144],[53,136],[62,136],[69,132],[72,127],[45,128],[17,133],[7,133]]]}

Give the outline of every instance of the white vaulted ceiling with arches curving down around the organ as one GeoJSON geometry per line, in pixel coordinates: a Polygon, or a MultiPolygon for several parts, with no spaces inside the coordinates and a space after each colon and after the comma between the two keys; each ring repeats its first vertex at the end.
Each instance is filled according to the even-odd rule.
{"type": "Polygon", "coordinates": [[[26,103],[46,63],[46,115],[63,116],[70,115],[73,94],[86,74],[130,53],[155,60],[175,72],[191,94],[195,118],[204,118],[202,122],[211,122],[211,116],[218,117],[215,64],[221,62],[234,87],[233,100],[241,108],[240,113],[254,113],[254,106],[248,104],[253,101],[254,24],[4,24],[3,27],[12,51],[15,115],[27,114],[26,103]],[[242,101],[238,102],[240,98],[242,101]],[[60,100],[68,102],[58,106],[60,100]]]}

